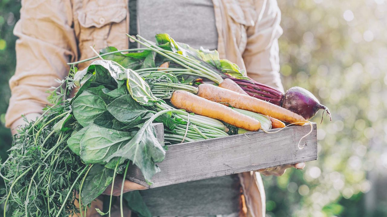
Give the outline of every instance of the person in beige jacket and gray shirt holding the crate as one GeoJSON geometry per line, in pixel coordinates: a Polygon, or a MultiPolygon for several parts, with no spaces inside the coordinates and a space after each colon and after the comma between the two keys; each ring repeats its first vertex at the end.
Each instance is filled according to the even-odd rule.
{"type": "MultiPolygon", "coordinates": [[[[280,20],[275,0],[23,0],[14,29],[19,37],[17,65],[9,81],[12,96],[6,125],[15,133],[23,123],[22,114],[29,120],[40,115],[47,104],[46,91],[57,86],[55,78],[67,76],[66,63],[94,56],[90,46],[97,51],[107,46],[137,47],[125,33],[147,39],[168,33],[195,48],[217,49],[221,58],[238,64],[250,78],[283,91],[277,41],[282,34],[280,20]]],[[[286,168],[304,166],[259,172],[282,175],[286,168]]],[[[120,194],[121,183],[117,176],[114,195],[120,194]]],[[[128,180],[124,185],[125,192],[144,190],[128,180]]],[[[256,171],[140,192],[157,216],[265,216],[265,193],[256,171]]],[[[110,187],[105,193],[110,194],[110,187]]],[[[101,202],[93,202],[94,207],[101,209],[101,202]]],[[[99,216],[94,209],[87,215],[99,216]]]]}

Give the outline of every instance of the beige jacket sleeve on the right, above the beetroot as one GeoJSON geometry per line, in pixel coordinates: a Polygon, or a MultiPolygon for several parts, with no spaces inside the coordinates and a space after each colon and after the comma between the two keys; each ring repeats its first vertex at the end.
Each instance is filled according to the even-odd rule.
{"type": "Polygon", "coordinates": [[[284,91],[279,75],[278,38],[282,35],[281,11],[276,0],[255,1],[257,19],[247,29],[247,45],[243,53],[250,78],[284,91]]]}

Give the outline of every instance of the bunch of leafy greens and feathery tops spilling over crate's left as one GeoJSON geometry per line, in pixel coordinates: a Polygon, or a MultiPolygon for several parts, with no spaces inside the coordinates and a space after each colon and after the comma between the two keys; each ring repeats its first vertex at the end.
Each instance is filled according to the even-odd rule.
{"type": "MultiPolygon", "coordinates": [[[[151,62],[155,68],[155,60],[151,62]]],[[[195,90],[173,74],[142,78],[108,60],[94,61],[82,71],[73,65],[71,74],[52,92],[53,105],[19,130],[1,166],[6,181],[4,216],[82,215],[114,183],[117,173],[126,175],[129,162],[149,182],[159,172],[155,163],[165,156],[153,122],[164,124],[165,139],[173,143],[228,135],[221,122],[177,110],[156,96],[168,98],[171,88],[195,90]],[[79,87],[75,97],[66,99],[74,87],[79,87]]]]}

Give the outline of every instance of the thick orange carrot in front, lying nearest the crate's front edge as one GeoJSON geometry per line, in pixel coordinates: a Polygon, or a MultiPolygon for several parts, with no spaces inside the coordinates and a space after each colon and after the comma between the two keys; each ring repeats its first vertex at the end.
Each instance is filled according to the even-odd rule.
{"type": "Polygon", "coordinates": [[[228,124],[247,131],[258,131],[261,128],[260,122],[252,117],[236,112],[228,106],[212,102],[184,90],[173,92],[171,103],[176,108],[184,109],[187,112],[194,112],[198,115],[223,120],[228,124]]]}

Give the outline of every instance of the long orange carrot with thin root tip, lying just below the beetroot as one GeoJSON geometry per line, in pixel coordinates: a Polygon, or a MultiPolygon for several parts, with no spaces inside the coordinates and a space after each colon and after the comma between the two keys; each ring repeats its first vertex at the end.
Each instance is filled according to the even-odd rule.
{"type": "Polygon", "coordinates": [[[235,108],[260,113],[288,123],[301,122],[298,125],[307,123],[307,120],[305,120],[301,115],[291,112],[285,108],[258,98],[236,93],[232,90],[227,90],[219,86],[206,83],[201,84],[199,85],[199,92],[197,95],[214,102],[226,103],[235,108]]]}

